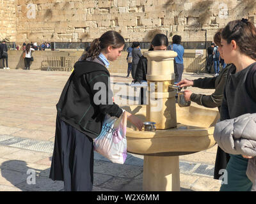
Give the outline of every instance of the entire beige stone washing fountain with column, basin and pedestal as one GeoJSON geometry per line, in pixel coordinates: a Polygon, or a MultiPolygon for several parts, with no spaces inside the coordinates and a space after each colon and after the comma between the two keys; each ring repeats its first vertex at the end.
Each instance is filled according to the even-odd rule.
{"type": "Polygon", "coordinates": [[[123,106],[143,121],[156,122],[156,131],[138,131],[127,123],[127,150],[144,156],[144,191],[180,191],[179,156],[215,145],[214,124],[219,113],[195,106],[179,107],[172,89],[173,51],[150,51],[147,105],[123,106]]]}

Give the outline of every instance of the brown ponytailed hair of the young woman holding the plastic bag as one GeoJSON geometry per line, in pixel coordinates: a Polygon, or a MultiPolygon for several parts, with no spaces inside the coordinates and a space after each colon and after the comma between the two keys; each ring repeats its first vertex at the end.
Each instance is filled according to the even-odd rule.
{"type": "Polygon", "coordinates": [[[99,56],[100,52],[108,47],[112,46],[113,48],[120,48],[125,44],[124,38],[117,33],[116,31],[107,31],[102,34],[100,38],[97,38],[92,41],[90,49],[86,52],[81,60],[85,60],[88,57],[91,57],[91,60],[95,59],[95,57],[99,56]]]}

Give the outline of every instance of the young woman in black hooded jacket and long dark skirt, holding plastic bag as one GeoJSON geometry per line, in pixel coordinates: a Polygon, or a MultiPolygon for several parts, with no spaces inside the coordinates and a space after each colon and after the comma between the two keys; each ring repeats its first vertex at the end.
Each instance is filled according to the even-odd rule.
{"type": "MultiPolygon", "coordinates": [[[[93,40],[81,61],[74,65],[56,105],[56,135],[50,179],[63,180],[65,191],[92,191],[93,139],[99,136],[106,114],[120,117],[122,108],[113,102],[108,71],[124,48],[124,38],[107,31],[93,40]],[[97,101],[95,85],[102,84],[106,98],[97,101]],[[96,101],[95,101],[96,97],[96,101]],[[99,103],[100,102],[100,103],[99,103]]],[[[127,112],[127,120],[139,130],[143,122],[127,112]]]]}

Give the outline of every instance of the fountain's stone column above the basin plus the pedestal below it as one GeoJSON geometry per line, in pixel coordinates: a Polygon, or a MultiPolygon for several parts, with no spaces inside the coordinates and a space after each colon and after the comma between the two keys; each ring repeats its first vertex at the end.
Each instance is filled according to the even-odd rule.
{"type": "MultiPolygon", "coordinates": [[[[149,97],[147,121],[156,122],[156,129],[177,126],[175,94],[169,85],[175,79],[173,51],[143,52],[147,57],[149,97]]],[[[144,191],[180,191],[179,156],[144,156],[144,191]],[[161,175],[161,176],[159,176],[161,175]]]]}

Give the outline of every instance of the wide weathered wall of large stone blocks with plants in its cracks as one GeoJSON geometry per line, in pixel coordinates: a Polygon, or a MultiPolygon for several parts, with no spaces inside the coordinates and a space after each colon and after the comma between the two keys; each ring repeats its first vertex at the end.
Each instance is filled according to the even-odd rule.
{"type": "MultiPolygon", "coordinates": [[[[1,1],[1,0],[0,0],[1,1]]],[[[2,0],[7,2],[9,0],[2,0]]],[[[13,2],[13,1],[12,1],[13,2]]],[[[92,41],[115,30],[126,41],[161,32],[212,41],[228,21],[255,22],[254,0],[17,0],[17,41],[92,41]]]]}

